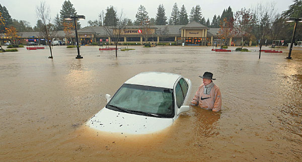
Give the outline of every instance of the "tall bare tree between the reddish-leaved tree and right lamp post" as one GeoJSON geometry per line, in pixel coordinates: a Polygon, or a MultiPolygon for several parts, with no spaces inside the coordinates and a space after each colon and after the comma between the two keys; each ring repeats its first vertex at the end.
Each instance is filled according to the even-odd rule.
{"type": "Polygon", "coordinates": [[[275,16],[274,5],[270,4],[263,6],[262,4],[257,4],[253,9],[253,33],[259,44],[259,59],[261,57],[261,48],[265,43],[265,40],[270,34],[270,27],[273,17],[275,16]]]}

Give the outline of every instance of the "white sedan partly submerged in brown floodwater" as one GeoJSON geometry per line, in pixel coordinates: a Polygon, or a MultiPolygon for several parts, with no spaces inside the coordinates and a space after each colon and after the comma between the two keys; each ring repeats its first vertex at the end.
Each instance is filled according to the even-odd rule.
{"type": "Polygon", "coordinates": [[[188,100],[191,80],[167,72],[142,72],[128,79],[107,105],[86,125],[90,128],[127,134],[147,134],[173,124],[188,100]]]}

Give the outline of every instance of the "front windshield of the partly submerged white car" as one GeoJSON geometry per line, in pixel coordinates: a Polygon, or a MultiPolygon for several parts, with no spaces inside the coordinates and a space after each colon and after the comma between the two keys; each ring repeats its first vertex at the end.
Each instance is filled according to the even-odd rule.
{"type": "Polygon", "coordinates": [[[124,84],[106,107],[131,114],[169,118],[174,116],[173,103],[171,89],[124,84]]]}

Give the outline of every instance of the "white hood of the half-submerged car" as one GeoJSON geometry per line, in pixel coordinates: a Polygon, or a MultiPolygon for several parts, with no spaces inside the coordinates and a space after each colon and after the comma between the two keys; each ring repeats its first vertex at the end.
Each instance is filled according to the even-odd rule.
{"type": "Polygon", "coordinates": [[[172,118],[157,118],[123,113],[104,107],[86,125],[90,128],[125,134],[148,134],[163,130],[173,124],[172,118]]]}

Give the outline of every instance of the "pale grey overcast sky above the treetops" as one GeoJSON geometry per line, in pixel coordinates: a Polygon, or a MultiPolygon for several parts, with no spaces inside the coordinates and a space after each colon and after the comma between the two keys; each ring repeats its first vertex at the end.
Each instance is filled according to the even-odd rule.
{"type": "MultiPolygon", "coordinates": [[[[25,20],[30,23],[32,27],[35,26],[37,22],[36,16],[36,6],[40,4],[41,1],[33,0],[33,1],[23,1],[23,0],[2,0],[0,4],[5,6],[12,19],[17,20],[25,20]]],[[[49,0],[46,1],[46,4],[50,7],[51,18],[53,19],[56,14],[60,14],[60,10],[62,9],[63,0],[49,0]]],[[[177,3],[178,8],[180,9],[182,5],[185,5],[188,15],[190,15],[190,11],[192,7],[196,5],[200,5],[202,15],[210,19],[210,22],[213,16],[222,14],[223,9],[231,6],[233,12],[240,10],[241,8],[252,8],[257,5],[257,3],[262,3],[263,5],[275,4],[275,9],[277,13],[281,13],[284,10],[288,9],[288,6],[293,4],[291,0],[183,0],[183,1],[159,1],[159,0],[148,0],[148,1],[121,1],[121,0],[111,0],[111,1],[93,1],[93,0],[70,0],[73,4],[75,10],[77,10],[78,15],[85,15],[86,20],[81,20],[82,27],[88,26],[89,20],[98,19],[98,15],[102,12],[102,10],[106,10],[106,8],[110,5],[114,6],[118,12],[123,11],[125,16],[132,21],[135,20],[135,14],[137,13],[137,9],[139,5],[143,5],[149,15],[149,18],[155,18],[157,13],[157,8],[160,4],[163,4],[166,9],[166,16],[168,20],[171,16],[171,11],[174,3],[177,3]]]]}

